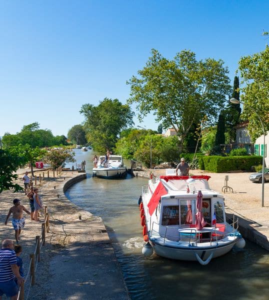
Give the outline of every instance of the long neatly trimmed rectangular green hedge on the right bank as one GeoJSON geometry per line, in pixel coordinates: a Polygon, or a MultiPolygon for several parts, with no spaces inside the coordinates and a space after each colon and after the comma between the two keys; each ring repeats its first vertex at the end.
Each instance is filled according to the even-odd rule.
{"type": "Polygon", "coordinates": [[[200,156],[199,167],[211,172],[250,170],[252,165],[262,164],[262,156],[200,156]]]}

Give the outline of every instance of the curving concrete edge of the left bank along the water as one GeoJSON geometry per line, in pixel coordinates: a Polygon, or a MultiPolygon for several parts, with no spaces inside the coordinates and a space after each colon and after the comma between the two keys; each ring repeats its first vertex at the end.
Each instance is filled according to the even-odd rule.
{"type": "MultiPolygon", "coordinates": [[[[63,202],[67,202],[68,201],[68,204],[69,205],[72,205],[80,214],[81,216],[84,216],[84,217],[90,217],[90,216],[94,216],[91,212],[87,211],[87,210],[84,210],[80,207],[78,207],[76,204],[72,203],[66,196],[65,196],[65,192],[66,190],[72,186],[74,183],[76,182],[79,182],[79,181],[82,181],[84,179],[87,178],[87,174],[86,173],[82,173],[82,174],[79,174],[75,177],[72,177],[70,178],[69,180],[67,180],[66,182],[62,182],[61,184],[59,184],[58,186],[58,193],[59,193],[59,198],[63,201],[63,202]]],[[[126,290],[126,294],[127,294],[127,297],[130,299],[130,294],[129,294],[129,291],[128,291],[128,288],[127,288],[127,285],[126,285],[126,282],[124,280],[124,276],[123,276],[123,273],[121,271],[121,268],[119,266],[119,262],[117,260],[117,257],[116,257],[116,254],[115,254],[115,250],[113,248],[113,245],[112,245],[112,242],[109,238],[109,235],[107,233],[107,230],[106,230],[106,227],[103,223],[103,220],[101,217],[99,216],[94,216],[96,218],[99,219],[100,223],[102,224],[102,226],[105,228],[105,234],[107,235],[107,240],[109,241],[110,245],[111,245],[111,248],[113,249],[113,253],[114,253],[114,256],[115,256],[115,261],[116,261],[116,265],[117,265],[117,268],[119,270],[119,273],[121,274],[121,279],[122,279],[122,282],[124,283],[124,287],[125,287],[125,290],[126,290]]],[[[102,234],[104,234],[102,232],[102,234]]]]}

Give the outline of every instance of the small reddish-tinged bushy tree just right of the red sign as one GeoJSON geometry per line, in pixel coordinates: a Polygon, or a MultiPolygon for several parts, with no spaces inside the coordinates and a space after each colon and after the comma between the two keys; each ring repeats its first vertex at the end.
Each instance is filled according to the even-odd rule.
{"type": "Polygon", "coordinates": [[[50,163],[52,169],[64,166],[65,162],[74,162],[74,152],[69,149],[50,149],[46,152],[44,161],[50,163]]]}

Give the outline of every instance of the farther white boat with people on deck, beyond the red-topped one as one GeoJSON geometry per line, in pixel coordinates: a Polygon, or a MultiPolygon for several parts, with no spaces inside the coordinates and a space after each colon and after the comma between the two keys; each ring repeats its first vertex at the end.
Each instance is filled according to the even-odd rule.
{"type": "Polygon", "coordinates": [[[116,178],[125,177],[127,174],[127,168],[123,165],[121,155],[111,154],[105,162],[105,156],[99,157],[97,167],[92,168],[92,177],[101,178],[116,178]]]}

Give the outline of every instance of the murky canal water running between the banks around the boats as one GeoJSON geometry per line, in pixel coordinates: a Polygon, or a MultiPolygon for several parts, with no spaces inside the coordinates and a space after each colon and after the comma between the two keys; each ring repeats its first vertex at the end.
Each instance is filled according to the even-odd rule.
{"type": "Polygon", "coordinates": [[[92,178],[94,154],[75,149],[76,160],[86,161],[87,178],[65,194],[103,219],[132,300],[269,299],[269,252],[249,241],[206,266],[157,255],[145,258],[137,201],[147,179],[92,178]]]}

